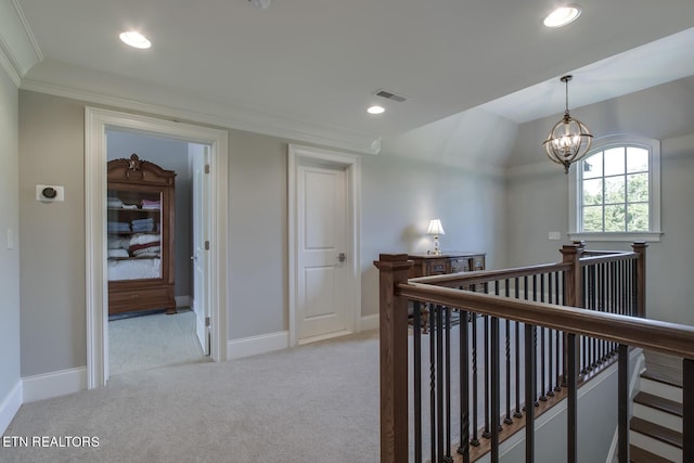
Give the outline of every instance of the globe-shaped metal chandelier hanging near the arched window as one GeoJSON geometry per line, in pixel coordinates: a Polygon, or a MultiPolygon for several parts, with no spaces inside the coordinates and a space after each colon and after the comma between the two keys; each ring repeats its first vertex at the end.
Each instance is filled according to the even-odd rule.
{"type": "Polygon", "coordinates": [[[564,76],[561,79],[566,85],[566,111],[564,112],[564,117],[552,127],[550,134],[542,143],[550,160],[564,166],[564,173],[568,173],[573,163],[586,156],[593,139],[588,127],[568,114],[568,81],[571,80],[571,77],[564,76]]]}

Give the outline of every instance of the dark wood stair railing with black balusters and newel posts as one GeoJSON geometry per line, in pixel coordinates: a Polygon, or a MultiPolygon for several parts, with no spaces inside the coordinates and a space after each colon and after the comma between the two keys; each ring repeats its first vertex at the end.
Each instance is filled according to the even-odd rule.
{"type": "MultiPolygon", "coordinates": [[[[618,359],[618,454],[620,462],[629,461],[628,439],[628,352],[629,346],[645,348],[683,359],[685,384],[682,429],[685,461],[694,462],[694,326],[680,325],[645,318],[645,269],[646,247],[643,242],[632,244],[632,252],[589,252],[582,243],[564,245],[562,262],[515,268],[497,271],[477,271],[449,275],[408,279],[413,262],[406,254],[382,254],[374,265],[380,272],[380,358],[381,358],[381,461],[399,463],[408,461],[408,316],[412,313],[414,346],[414,453],[422,460],[422,373],[426,373],[421,359],[422,329],[433,320],[429,335],[429,404],[432,410],[430,451],[432,461],[452,461],[450,420],[450,331],[459,325],[460,336],[460,393],[468,397],[467,385],[473,384],[472,401],[477,402],[475,385],[478,382],[476,347],[477,317],[484,322],[484,389],[492,399],[485,398],[484,437],[491,440],[491,461],[499,459],[500,375],[502,357],[505,357],[505,377],[511,377],[510,323],[515,324],[515,374],[516,407],[518,397],[518,342],[525,344],[525,403],[542,400],[548,390],[566,390],[567,400],[567,461],[578,461],[577,407],[578,377],[592,371],[595,365],[617,355],[618,359]],[[519,279],[523,278],[523,281],[519,279]],[[515,279],[515,280],[514,280],[515,279]],[[479,284],[484,283],[484,286],[479,284]],[[493,283],[493,287],[492,287],[493,283]],[[511,298],[511,293],[515,298],[511,298]],[[489,294],[494,293],[494,294],[489,294]],[[501,294],[504,294],[502,296],[501,294]],[[522,295],[522,298],[520,298],[522,295]],[[538,298],[540,300],[538,300],[538,298]],[[531,300],[530,300],[531,299],[531,300]],[[550,300],[555,304],[544,303],[550,300]],[[410,303],[414,303],[412,306],[410,303]],[[558,304],[562,304],[561,306],[558,304]],[[460,313],[453,323],[452,312],[460,313]],[[500,326],[505,321],[505,329],[500,326]],[[489,323],[489,326],[488,326],[489,323]],[[523,324],[524,332],[518,327],[523,324]],[[463,329],[463,326],[465,326],[463,329]],[[435,329],[435,330],[434,330],[435,329]],[[489,330],[489,331],[488,331],[489,330]],[[505,331],[505,356],[500,330],[505,331]],[[489,333],[490,338],[487,338],[489,333]],[[547,334],[549,333],[549,335],[547,334]],[[472,340],[470,357],[467,349],[472,340]],[[545,345],[545,340],[549,345],[545,345]],[[601,344],[604,343],[604,344],[601,344]],[[545,347],[547,346],[547,347],[545,347]],[[489,349],[488,349],[489,347],[489,349]],[[548,348],[549,347],[549,348],[548,348]],[[554,347],[554,349],[553,349],[554,347]],[[543,353],[549,362],[543,360],[543,353]],[[552,361],[554,353],[554,363],[552,361]],[[538,371],[538,360],[540,370],[538,371]],[[587,360],[587,361],[586,361],[587,360]],[[562,369],[560,369],[560,361],[562,369]],[[487,365],[487,362],[489,364],[487,365]],[[550,365],[549,377],[557,383],[545,383],[542,365],[550,365]],[[555,370],[551,370],[551,365],[555,370]],[[580,369],[580,370],[579,370],[580,369]],[[468,375],[468,373],[472,375],[468,375]],[[538,385],[538,378],[540,385],[538,385]],[[558,381],[561,380],[561,385],[558,381]],[[548,388],[549,386],[549,388],[548,388]],[[538,390],[538,387],[541,390],[538,390]],[[419,399],[417,399],[419,397],[419,399]],[[487,407],[490,407],[488,410],[487,407]],[[435,417],[435,419],[434,419],[435,417]],[[419,429],[419,430],[417,430],[419,429]],[[487,434],[487,436],[485,436],[487,434]],[[445,436],[445,437],[444,437],[445,436]],[[444,456],[445,454],[445,456],[444,456]],[[438,455],[436,458],[435,455],[438,455]]],[[[514,381],[512,380],[512,381],[514,381]]],[[[506,391],[506,417],[510,416],[510,398],[506,391]]],[[[470,446],[477,440],[477,408],[467,408],[468,400],[461,399],[460,448],[463,460],[470,461],[470,446]],[[471,434],[470,429],[473,428],[471,434]]],[[[536,402],[537,403],[537,402],[536,402]]],[[[526,407],[514,419],[525,420],[526,461],[535,455],[535,412],[526,407]]],[[[506,423],[506,420],[504,420],[506,423]]]]}

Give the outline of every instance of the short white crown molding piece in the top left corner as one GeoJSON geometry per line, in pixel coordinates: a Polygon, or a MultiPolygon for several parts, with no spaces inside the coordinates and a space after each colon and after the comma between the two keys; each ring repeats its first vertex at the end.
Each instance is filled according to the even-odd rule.
{"type": "Polygon", "coordinates": [[[43,60],[17,0],[0,2],[0,65],[16,87],[43,60]]]}

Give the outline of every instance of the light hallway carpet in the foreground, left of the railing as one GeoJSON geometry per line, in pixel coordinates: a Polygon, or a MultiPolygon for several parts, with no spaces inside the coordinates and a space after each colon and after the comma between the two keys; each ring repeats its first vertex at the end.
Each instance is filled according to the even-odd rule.
{"type": "Polygon", "coordinates": [[[378,334],[123,373],[22,406],[5,435],[99,447],[0,448],[2,462],[377,462],[378,334]]]}

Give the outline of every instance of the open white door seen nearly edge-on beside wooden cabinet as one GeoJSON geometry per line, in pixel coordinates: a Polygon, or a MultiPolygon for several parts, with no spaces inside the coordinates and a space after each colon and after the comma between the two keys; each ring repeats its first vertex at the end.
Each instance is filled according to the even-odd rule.
{"type": "Polygon", "coordinates": [[[209,242],[209,146],[190,145],[193,167],[193,310],[195,331],[206,356],[209,355],[209,259],[206,243],[209,242]]]}

